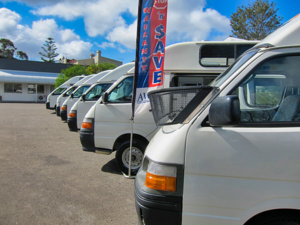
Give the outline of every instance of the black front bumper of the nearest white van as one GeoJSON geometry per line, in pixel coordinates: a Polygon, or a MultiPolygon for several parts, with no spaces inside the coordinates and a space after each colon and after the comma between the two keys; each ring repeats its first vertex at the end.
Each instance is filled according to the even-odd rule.
{"type": "Polygon", "coordinates": [[[138,224],[181,224],[182,197],[151,194],[134,181],[138,224]]]}

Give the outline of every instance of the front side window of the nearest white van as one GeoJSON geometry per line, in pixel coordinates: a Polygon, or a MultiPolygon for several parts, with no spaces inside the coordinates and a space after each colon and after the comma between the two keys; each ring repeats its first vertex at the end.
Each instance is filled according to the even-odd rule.
{"type": "Polygon", "coordinates": [[[300,56],[269,59],[228,95],[239,97],[241,122],[300,121],[300,56]]]}

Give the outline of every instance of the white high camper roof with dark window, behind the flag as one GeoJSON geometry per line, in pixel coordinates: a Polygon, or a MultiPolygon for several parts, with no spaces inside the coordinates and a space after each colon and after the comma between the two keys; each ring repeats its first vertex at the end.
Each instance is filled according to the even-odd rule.
{"type": "MultiPolygon", "coordinates": [[[[223,41],[189,41],[165,47],[164,72],[221,73],[258,40],[227,38],[223,41]]],[[[134,73],[134,68],[128,73],[134,73]]]]}

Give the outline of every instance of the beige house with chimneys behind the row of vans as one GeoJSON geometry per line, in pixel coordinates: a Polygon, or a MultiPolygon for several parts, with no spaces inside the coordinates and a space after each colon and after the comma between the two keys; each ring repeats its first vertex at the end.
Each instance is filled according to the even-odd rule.
{"type": "Polygon", "coordinates": [[[98,64],[98,63],[104,63],[104,62],[111,62],[111,63],[115,64],[116,66],[119,66],[122,64],[121,61],[101,56],[100,50],[96,51],[96,55],[90,54],[90,58],[87,58],[87,59],[79,59],[79,60],[67,59],[64,56],[62,56],[62,58],[59,59],[59,62],[60,63],[79,64],[79,65],[92,65],[92,64],[98,64]]]}

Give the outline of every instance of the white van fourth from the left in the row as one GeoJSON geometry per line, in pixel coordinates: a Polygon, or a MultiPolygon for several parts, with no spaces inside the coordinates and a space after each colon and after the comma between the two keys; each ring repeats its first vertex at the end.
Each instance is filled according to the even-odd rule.
{"type": "Polygon", "coordinates": [[[106,91],[111,84],[113,84],[118,78],[126,73],[130,68],[134,66],[134,62],[129,62],[120,65],[107,73],[93,85],[91,85],[73,104],[71,107],[68,117],[67,125],[70,131],[77,131],[80,129],[82,120],[89,110],[89,108],[96,103],[100,98],[102,92],[106,91]]]}

